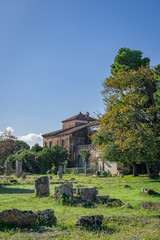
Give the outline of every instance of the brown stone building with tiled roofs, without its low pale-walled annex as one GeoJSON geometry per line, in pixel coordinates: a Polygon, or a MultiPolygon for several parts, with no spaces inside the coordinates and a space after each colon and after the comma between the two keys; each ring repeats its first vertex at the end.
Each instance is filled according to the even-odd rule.
{"type": "Polygon", "coordinates": [[[80,112],[71,118],[63,120],[62,129],[43,134],[43,146],[51,148],[57,144],[67,149],[70,153],[71,166],[83,167],[79,147],[91,145],[91,135],[96,127],[98,127],[96,119],[90,117],[88,112],[86,114],[80,112]]]}

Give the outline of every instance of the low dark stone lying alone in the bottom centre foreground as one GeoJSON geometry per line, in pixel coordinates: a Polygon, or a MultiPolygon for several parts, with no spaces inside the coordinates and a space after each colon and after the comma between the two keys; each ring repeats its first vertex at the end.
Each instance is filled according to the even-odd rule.
{"type": "Polygon", "coordinates": [[[91,215],[91,216],[80,216],[76,220],[76,226],[83,227],[96,227],[101,226],[103,221],[103,215],[91,215]]]}

